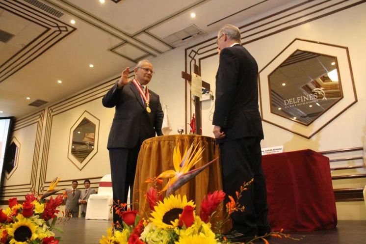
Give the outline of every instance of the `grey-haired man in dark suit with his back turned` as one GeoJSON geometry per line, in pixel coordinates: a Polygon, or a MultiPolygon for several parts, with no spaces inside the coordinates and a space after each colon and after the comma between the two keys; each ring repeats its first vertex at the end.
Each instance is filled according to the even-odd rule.
{"type": "Polygon", "coordinates": [[[240,39],[240,31],[233,25],[225,25],[218,32],[220,64],[212,121],[220,146],[224,191],[235,197],[243,182],[254,178],[239,201],[245,211],[232,214],[233,229],[227,237],[236,242],[270,232],[261,166],[263,131],[258,109],[258,65],[241,46],[240,39]]]}

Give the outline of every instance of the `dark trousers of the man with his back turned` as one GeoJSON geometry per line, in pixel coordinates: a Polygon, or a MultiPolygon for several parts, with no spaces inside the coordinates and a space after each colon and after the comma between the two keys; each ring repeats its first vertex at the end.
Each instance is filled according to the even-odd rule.
{"type": "Polygon", "coordinates": [[[244,190],[239,200],[244,212],[232,214],[233,229],[245,235],[263,235],[270,232],[268,224],[267,191],[261,166],[261,140],[258,137],[243,137],[220,144],[223,189],[235,198],[244,182],[254,182],[244,190]]]}

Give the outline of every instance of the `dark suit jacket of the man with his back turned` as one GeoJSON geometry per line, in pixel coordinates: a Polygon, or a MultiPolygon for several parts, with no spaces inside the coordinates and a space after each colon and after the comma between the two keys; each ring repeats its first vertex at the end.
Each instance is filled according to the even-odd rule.
{"type": "Polygon", "coordinates": [[[226,137],[216,139],[217,143],[248,136],[263,138],[257,79],[257,62],[244,47],[237,44],[221,51],[212,124],[220,126],[226,137]]]}

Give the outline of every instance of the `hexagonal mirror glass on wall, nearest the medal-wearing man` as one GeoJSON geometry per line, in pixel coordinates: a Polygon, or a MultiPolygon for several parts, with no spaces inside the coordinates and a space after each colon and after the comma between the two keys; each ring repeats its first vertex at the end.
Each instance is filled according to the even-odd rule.
{"type": "Polygon", "coordinates": [[[94,150],[95,124],[83,118],[73,131],[71,154],[82,163],[94,150]]]}

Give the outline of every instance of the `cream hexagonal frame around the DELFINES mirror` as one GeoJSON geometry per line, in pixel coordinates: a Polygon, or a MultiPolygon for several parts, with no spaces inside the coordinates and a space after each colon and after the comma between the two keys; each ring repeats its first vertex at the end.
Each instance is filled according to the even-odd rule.
{"type": "Polygon", "coordinates": [[[357,102],[356,88],[347,47],[296,38],[260,70],[258,78],[262,120],[308,139],[357,102]],[[268,76],[296,50],[337,57],[340,79],[342,81],[343,98],[308,126],[271,113],[268,76]]]}

